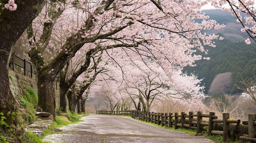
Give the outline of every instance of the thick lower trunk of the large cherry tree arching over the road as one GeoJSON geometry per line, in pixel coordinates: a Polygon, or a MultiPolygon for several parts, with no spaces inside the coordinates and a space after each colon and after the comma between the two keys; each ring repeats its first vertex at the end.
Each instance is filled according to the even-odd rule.
{"type": "Polygon", "coordinates": [[[38,105],[43,111],[51,113],[55,120],[55,86],[54,79],[49,76],[38,77],[38,105]]]}

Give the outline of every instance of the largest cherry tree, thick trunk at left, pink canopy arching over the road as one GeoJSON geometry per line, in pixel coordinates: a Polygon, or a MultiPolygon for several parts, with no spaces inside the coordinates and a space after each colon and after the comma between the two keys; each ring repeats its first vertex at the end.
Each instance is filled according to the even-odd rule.
{"type": "Polygon", "coordinates": [[[214,46],[212,39],[218,39],[218,35],[206,35],[201,30],[223,27],[201,14],[199,8],[205,4],[206,1],[108,0],[46,5],[47,13],[44,11],[35,20],[41,25],[33,24],[28,29],[29,54],[38,73],[39,106],[55,115],[55,77],[83,47],[87,49],[84,52],[93,54],[113,48],[121,48],[120,52],[128,55],[136,52],[138,58],[153,58],[164,69],[192,66],[201,59],[201,55],[193,53],[207,52],[203,45],[214,46]],[[81,17],[75,26],[67,21],[73,20],[74,13],[81,17]],[[202,23],[195,19],[202,19],[202,23]],[[63,30],[70,31],[66,38],[59,35],[63,30]],[[90,43],[94,46],[88,46],[90,43]],[[48,55],[53,58],[47,59],[48,55]]]}

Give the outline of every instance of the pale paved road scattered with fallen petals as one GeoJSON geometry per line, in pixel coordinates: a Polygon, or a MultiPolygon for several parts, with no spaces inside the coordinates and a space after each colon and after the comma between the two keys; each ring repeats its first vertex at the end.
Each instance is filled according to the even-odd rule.
{"type": "Polygon", "coordinates": [[[60,128],[61,133],[48,135],[44,141],[58,143],[80,142],[211,142],[202,136],[159,128],[121,116],[91,114],[83,122],[60,128]]]}

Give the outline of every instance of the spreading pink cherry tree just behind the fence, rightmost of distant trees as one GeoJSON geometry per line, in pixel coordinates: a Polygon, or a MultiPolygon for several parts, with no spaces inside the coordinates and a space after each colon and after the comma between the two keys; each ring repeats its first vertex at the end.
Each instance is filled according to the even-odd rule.
{"type": "Polygon", "coordinates": [[[203,87],[198,86],[201,80],[196,79],[195,76],[187,76],[176,71],[168,77],[164,71],[156,73],[157,70],[161,71],[161,69],[142,71],[140,77],[126,79],[128,88],[132,89],[129,94],[139,99],[144,111],[150,111],[152,103],[156,100],[172,99],[189,102],[192,98],[204,98],[203,87]]]}

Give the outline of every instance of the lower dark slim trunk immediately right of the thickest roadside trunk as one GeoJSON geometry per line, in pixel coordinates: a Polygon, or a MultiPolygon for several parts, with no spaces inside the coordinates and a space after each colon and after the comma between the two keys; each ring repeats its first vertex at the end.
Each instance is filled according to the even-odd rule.
{"type": "Polygon", "coordinates": [[[66,84],[60,81],[60,110],[64,113],[67,113],[66,94],[68,89],[66,84]]]}

